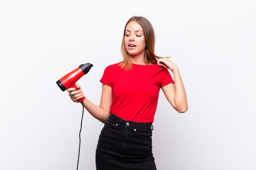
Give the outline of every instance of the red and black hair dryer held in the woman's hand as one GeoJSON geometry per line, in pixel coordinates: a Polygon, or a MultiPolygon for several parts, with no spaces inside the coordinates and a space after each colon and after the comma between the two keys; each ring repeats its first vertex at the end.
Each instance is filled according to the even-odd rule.
{"type": "MultiPolygon", "coordinates": [[[[78,68],[59,79],[56,84],[59,86],[59,88],[61,88],[62,91],[67,90],[67,88],[76,88],[77,80],[79,80],[83,75],[87,74],[92,66],[93,65],[90,63],[81,64],[78,68]]],[[[76,90],[78,89],[76,88],[76,90]]],[[[79,99],[78,101],[82,102],[84,99],[85,97],[79,99]]]]}

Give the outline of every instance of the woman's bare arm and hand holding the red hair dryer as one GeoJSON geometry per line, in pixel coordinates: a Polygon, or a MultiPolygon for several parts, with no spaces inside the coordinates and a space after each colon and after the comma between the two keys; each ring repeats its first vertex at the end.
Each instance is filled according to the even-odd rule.
{"type": "MultiPolygon", "coordinates": [[[[78,102],[79,99],[84,97],[84,93],[81,90],[80,85],[77,85],[78,91],[74,91],[75,88],[67,89],[69,92],[70,98],[73,102],[78,102]]],[[[105,122],[108,120],[110,116],[110,106],[112,104],[112,88],[102,83],[102,93],[101,93],[101,102],[100,105],[97,106],[90,102],[86,97],[83,100],[84,108],[96,119],[101,122],[105,122]]]]}

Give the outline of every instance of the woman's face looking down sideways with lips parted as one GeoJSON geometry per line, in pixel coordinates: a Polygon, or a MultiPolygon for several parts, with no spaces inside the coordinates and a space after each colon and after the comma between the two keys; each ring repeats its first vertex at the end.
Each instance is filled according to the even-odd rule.
{"type": "Polygon", "coordinates": [[[131,21],[126,26],[124,44],[129,56],[144,57],[146,42],[141,25],[131,21]]]}

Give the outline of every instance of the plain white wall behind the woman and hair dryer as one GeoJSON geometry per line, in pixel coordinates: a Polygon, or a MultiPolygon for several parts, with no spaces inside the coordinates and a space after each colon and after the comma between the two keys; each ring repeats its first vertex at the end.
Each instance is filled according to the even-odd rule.
{"type": "MultiPolygon", "coordinates": [[[[162,91],[153,153],[159,170],[256,169],[256,12],[253,0],[0,0],[0,169],[76,168],[81,104],[56,81],[87,62],[79,82],[99,104],[99,79],[122,60],[126,21],[153,24],[155,53],[180,68],[189,110],[162,91]]],[[[79,169],[95,170],[103,124],[85,110],[79,169]]]]}

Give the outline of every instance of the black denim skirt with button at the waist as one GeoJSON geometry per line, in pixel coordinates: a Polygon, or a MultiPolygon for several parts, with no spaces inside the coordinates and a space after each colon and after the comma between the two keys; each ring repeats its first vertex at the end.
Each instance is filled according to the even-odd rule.
{"type": "Polygon", "coordinates": [[[97,170],[156,170],[152,123],[125,121],[111,114],[96,150],[97,170]]]}

